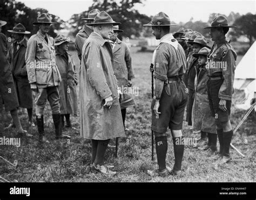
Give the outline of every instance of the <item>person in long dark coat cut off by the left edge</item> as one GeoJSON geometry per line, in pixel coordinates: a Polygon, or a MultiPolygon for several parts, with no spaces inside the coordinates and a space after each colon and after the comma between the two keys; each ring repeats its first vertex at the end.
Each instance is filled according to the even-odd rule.
{"type": "MultiPolygon", "coordinates": [[[[6,22],[0,20],[0,27],[4,26],[6,22]]],[[[1,28],[0,28],[1,30],[1,28]]],[[[0,112],[2,112],[3,104],[5,111],[10,111],[12,120],[16,127],[18,134],[25,134],[27,136],[32,136],[23,130],[21,123],[19,121],[17,108],[19,106],[14,79],[11,75],[11,66],[7,61],[7,41],[3,33],[0,33],[0,112]]],[[[2,134],[2,131],[0,131],[2,134]]],[[[1,137],[2,135],[0,135],[1,137]]]]}

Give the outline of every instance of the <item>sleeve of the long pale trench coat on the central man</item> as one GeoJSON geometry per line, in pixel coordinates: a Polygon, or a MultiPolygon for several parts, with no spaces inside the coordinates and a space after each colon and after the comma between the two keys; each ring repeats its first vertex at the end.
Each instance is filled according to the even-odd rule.
{"type": "Polygon", "coordinates": [[[100,48],[101,46],[96,44],[96,42],[90,42],[85,47],[84,54],[86,55],[86,60],[84,60],[87,75],[89,77],[89,81],[93,88],[97,91],[99,96],[102,99],[105,99],[112,95],[112,92],[107,84],[106,77],[103,71],[104,63],[102,63],[102,59],[100,58],[100,48]]]}

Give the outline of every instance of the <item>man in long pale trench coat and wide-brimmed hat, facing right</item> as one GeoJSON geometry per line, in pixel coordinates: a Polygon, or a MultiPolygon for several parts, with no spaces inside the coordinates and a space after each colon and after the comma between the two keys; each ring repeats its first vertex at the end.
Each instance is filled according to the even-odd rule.
{"type": "Polygon", "coordinates": [[[105,12],[98,13],[91,24],[93,33],[82,51],[80,71],[80,134],[91,139],[91,171],[114,175],[104,166],[104,155],[111,138],[124,137],[119,104],[120,90],[112,65],[112,49],[108,42],[113,25],[118,25],[105,12]]]}

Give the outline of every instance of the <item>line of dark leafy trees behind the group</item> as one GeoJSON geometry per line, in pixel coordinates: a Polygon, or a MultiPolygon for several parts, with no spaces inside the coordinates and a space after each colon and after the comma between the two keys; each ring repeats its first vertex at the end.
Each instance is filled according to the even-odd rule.
{"type": "MultiPolygon", "coordinates": [[[[150,37],[152,36],[151,29],[149,27],[143,27],[143,24],[148,23],[152,16],[146,16],[134,9],[134,5],[144,4],[144,2],[144,0],[120,0],[120,2],[114,0],[93,0],[92,5],[86,11],[76,13],[72,15],[68,22],[64,22],[64,20],[49,13],[46,9],[31,9],[24,3],[16,2],[15,0],[2,0],[0,2],[0,19],[8,22],[8,24],[3,26],[3,32],[6,34],[8,34],[7,30],[11,30],[17,23],[22,23],[27,31],[30,31],[31,34],[35,34],[37,27],[33,26],[32,22],[37,20],[38,13],[45,12],[49,13],[53,18],[53,22],[58,22],[57,24],[53,24],[50,28],[49,34],[53,38],[57,36],[54,30],[60,30],[62,28],[70,30],[71,34],[75,36],[83,27],[84,21],[81,20],[81,18],[87,18],[88,12],[97,8],[100,11],[105,10],[113,20],[122,23],[119,28],[124,30],[124,32],[119,35],[120,37],[150,37]]],[[[180,27],[184,27],[185,29],[189,28],[193,31],[198,31],[207,37],[208,30],[205,30],[203,27],[210,24],[217,15],[223,14],[211,13],[207,22],[201,20],[193,22],[193,18],[191,18],[191,20],[186,23],[178,23],[180,26],[173,27],[172,30],[178,31],[180,27]]],[[[237,26],[237,28],[228,32],[228,37],[230,37],[232,41],[235,41],[240,35],[245,35],[248,40],[250,40],[250,44],[252,44],[256,38],[256,15],[247,13],[241,16],[239,13],[231,12],[230,15],[226,17],[231,25],[237,26]]],[[[177,24],[176,22],[173,23],[177,24]]]]}

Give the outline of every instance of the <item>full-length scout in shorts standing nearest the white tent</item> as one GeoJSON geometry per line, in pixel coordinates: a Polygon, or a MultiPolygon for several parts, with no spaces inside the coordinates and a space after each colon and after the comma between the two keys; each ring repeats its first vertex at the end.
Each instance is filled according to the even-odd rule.
{"type": "Polygon", "coordinates": [[[233,130],[230,123],[230,108],[237,54],[225,37],[230,27],[235,26],[229,26],[227,18],[221,15],[213,19],[211,26],[204,27],[210,28],[210,36],[214,41],[206,70],[209,77],[207,82],[209,105],[216,120],[220,144],[216,162],[219,164],[231,160],[230,143],[233,130]]]}

